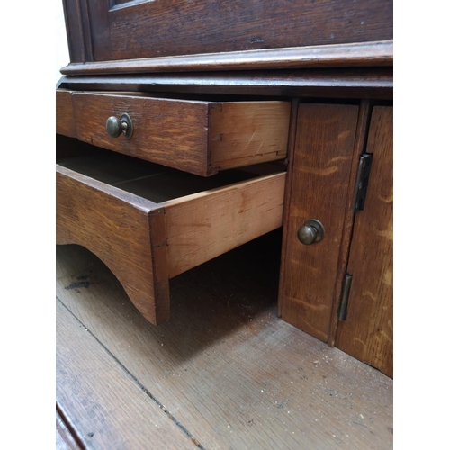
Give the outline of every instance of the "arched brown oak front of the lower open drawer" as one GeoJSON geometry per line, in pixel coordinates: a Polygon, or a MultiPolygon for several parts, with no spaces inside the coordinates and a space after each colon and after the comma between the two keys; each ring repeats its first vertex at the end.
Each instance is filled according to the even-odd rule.
{"type": "Polygon", "coordinates": [[[58,165],[56,192],[57,243],[94,252],[147,320],[167,320],[164,214],[157,204],[58,165]]]}

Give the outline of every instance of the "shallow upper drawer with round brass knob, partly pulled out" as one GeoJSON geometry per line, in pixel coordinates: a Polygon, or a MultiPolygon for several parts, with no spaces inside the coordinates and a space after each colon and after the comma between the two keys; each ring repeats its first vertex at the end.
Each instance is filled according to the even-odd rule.
{"type": "Polygon", "coordinates": [[[215,103],[57,90],[59,134],[202,176],[286,157],[290,112],[290,103],[279,101],[215,103]],[[130,121],[123,127],[128,136],[110,136],[110,118],[116,118],[110,132],[130,121]]]}

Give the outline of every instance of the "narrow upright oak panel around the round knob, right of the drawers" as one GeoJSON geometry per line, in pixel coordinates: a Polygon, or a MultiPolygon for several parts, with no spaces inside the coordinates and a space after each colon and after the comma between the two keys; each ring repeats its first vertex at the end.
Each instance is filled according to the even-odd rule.
{"type": "Polygon", "coordinates": [[[338,258],[347,206],[358,107],[301,103],[298,111],[291,200],[280,289],[282,318],[327,341],[335,301],[338,258]],[[320,220],[325,238],[304,246],[297,231],[308,219],[320,220]]]}

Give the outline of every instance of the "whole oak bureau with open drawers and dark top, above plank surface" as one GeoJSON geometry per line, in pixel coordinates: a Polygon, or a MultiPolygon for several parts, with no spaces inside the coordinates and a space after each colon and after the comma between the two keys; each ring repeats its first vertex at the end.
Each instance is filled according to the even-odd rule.
{"type": "Polygon", "coordinates": [[[392,1],[63,3],[58,244],[157,324],[283,226],[281,319],[393,376],[392,1]]]}

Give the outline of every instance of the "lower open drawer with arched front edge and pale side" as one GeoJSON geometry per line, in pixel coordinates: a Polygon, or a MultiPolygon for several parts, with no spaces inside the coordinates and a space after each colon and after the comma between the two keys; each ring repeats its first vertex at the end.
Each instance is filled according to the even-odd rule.
{"type": "Polygon", "coordinates": [[[58,159],[57,243],[102,259],[154,324],[169,318],[169,278],[282,225],[280,169],[203,178],[76,144],[94,152],[58,159]]]}

